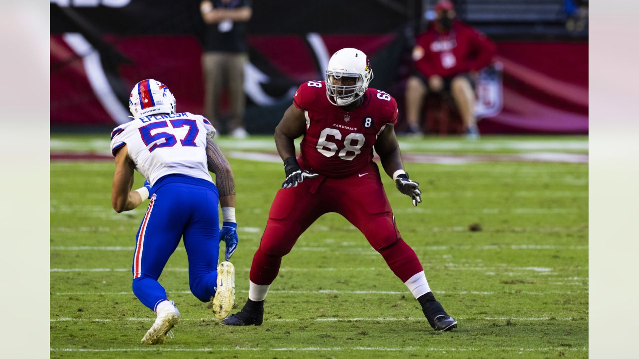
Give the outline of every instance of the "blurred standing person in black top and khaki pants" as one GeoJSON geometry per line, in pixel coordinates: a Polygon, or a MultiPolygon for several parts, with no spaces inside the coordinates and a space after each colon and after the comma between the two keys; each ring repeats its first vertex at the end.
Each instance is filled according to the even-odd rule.
{"type": "Polygon", "coordinates": [[[204,0],[200,3],[206,24],[202,67],[204,73],[204,114],[216,125],[220,93],[229,88],[230,120],[224,124],[233,137],[244,138],[244,65],[249,60],[244,39],[246,22],[252,11],[250,0],[204,0]]]}

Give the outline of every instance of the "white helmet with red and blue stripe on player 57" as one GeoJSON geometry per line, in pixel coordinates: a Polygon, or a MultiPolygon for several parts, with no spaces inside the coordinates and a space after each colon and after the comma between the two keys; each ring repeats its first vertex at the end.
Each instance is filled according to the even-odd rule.
{"type": "Polygon", "coordinates": [[[135,84],[128,97],[128,108],[133,118],[152,114],[174,114],[175,97],[162,82],[148,79],[135,84]]]}

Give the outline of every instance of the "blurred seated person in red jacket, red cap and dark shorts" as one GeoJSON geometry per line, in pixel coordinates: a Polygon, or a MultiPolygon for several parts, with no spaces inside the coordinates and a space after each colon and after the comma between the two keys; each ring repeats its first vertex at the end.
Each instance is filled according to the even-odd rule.
{"type": "Polygon", "coordinates": [[[479,137],[473,77],[495,56],[495,44],[456,19],[454,5],[435,4],[437,17],[413,48],[415,72],[406,84],[408,132],[419,134],[419,112],[427,93],[449,91],[459,108],[465,134],[479,137]]]}

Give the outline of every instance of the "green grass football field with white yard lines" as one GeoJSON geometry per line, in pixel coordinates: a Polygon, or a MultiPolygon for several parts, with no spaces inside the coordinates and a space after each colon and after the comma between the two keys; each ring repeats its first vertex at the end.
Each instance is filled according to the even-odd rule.
{"type": "MultiPolygon", "coordinates": [[[[282,261],[261,326],[220,326],[189,291],[180,245],[160,282],[182,321],[162,346],[139,340],[154,320],[131,289],[137,210],[111,208],[110,160],[50,165],[52,358],[555,358],[588,356],[588,165],[504,155],[587,155],[587,137],[403,139],[404,155],[482,157],[476,163],[406,162],[422,204],[385,178],[397,225],[429,284],[459,321],[435,333],[419,303],[339,215],[320,218],[282,261]],[[490,160],[495,158],[495,160],[490,160]],[[481,231],[470,231],[480,224],[481,231]]],[[[247,299],[250,261],[281,164],[268,137],[220,139],[235,172],[240,245],[236,305],[247,299]]],[[[108,134],[52,135],[55,153],[109,153],[108,134]]],[[[420,158],[419,156],[415,158],[420,158]]],[[[142,185],[137,174],[135,188],[142,185]]],[[[223,247],[223,245],[222,245],[223,247]]],[[[223,256],[223,254],[222,254],[223,256]]]]}

